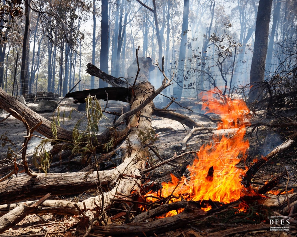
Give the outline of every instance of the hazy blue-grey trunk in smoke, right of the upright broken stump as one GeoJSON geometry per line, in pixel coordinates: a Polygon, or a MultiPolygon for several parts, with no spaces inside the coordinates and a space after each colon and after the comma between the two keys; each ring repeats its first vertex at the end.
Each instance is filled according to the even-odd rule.
{"type": "Polygon", "coordinates": [[[178,57],[178,73],[176,77],[177,85],[173,89],[174,96],[181,98],[182,88],[184,87],[184,66],[186,57],[187,31],[189,24],[189,0],[184,0],[183,24],[181,27],[181,45],[178,57]]]}

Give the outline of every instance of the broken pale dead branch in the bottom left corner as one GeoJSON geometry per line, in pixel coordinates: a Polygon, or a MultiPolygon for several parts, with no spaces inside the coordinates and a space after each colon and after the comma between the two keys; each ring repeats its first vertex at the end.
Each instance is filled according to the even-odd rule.
{"type": "Polygon", "coordinates": [[[9,228],[16,225],[18,222],[23,220],[30,210],[37,208],[49,197],[50,197],[50,194],[48,193],[47,195],[45,195],[43,198],[40,198],[39,201],[32,204],[31,206],[27,206],[25,203],[21,204],[20,206],[17,206],[9,213],[0,217],[0,233],[3,233],[5,230],[8,230],[9,228]]]}

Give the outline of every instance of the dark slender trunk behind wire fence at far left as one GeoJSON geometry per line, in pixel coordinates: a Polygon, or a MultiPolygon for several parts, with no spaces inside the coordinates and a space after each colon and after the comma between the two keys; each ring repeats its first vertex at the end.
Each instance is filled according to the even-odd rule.
{"type": "Polygon", "coordinates": [[[29,92],[29,28],[30,28],[30,3],[31,0],[25,2],[25,31],[23,39],[22,65],[20,71],[21,77],[21,94],[29,92]]]}

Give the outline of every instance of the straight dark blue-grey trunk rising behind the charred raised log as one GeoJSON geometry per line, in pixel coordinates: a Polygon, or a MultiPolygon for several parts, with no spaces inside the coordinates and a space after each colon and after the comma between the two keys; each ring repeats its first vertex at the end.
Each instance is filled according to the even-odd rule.
{"type": "MultiPolygon", "coordinates": [[[[100,48],[100,69],[108,73],[108,51],[109,51],[109,25],[108,25],[108,0],[101,1],[101,48],[100,48]]],[[[94,63],[93,63],[94,64],[94,63]]],[[[99,79],[99,88],[108,87],[108,84],[99,79]]]]}

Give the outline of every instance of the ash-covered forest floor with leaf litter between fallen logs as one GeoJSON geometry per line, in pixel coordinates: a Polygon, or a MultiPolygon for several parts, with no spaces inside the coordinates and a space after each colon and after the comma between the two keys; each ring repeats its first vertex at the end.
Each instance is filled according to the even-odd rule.
{"type": "MultiPolygon", "coordinates": [[[[121,108],[126,105],[126,103],[113,103],[109,102],[109,111],[117,111],[121,112],[121,108]]],[[[32,105],[32,104],[30,104],[32,105]]],[[[65,108],[65,116],[67,117],[72,110],[72,108],[77,109],[78,105],[75,105],[72,103],[72,99],[65,99],[61,103],[62,107],[65,108]]],[[[37,104],[36,104],[37,106],[37,104]]],[[[102,105],[103,106],[103,105],[102,105]]],[[[156,107],[160,108],[158,104],[156,103],[156,107]]],[[[64,111],[64,108],[61,109],[61,111],[64,111]]],[[[198,108],[192,107],[194,110],[194,113],[187,111],[185,109],[178,109],[177,112],[183,113],[187,116],[189,116],[194,121],[198,122],[199,124],[203,126],[213,126],[215,127],[216,124],[209,121],[206,118],[203,118],[197,113],[203,113],[198,108]]],[[[79,113],[78,111],[72,112],[72,119],[68,120],[67,118],[63,119],[61,112],[61,120],[64,120],[63,123],[61,123],[61,126],[72,130],[75,124],[75,121],[78,121],[83,114],[79,113]]],[[[53,113],[41,113],[41,116],[51,119],[53,116],[53,113]]],[[[0,120],[5,118],[7,114],[1,114],[0,120]]],[[[100,123],[100,131],[102,132],[105,127],[109,126],[114,116],[111,116],[109,114],[105,115],[106,119],[102,119],[100,123]]],[[[296,121],[296,111],[291,114],[291,119],[296,121]],[[294,115],[295,113],[295,115],[294,115]]],[[[256,122],[256,121],[254,121],[256,122]]],[[[268,120],[266,122],[269,122],[268,120]]],[[[82,124],[83,126],[84,124],[82,124]]],[[[24,137],[26,135],[26,128],[23,125],[23,123],[14,117],[10,116],[7,120],[2,122],[0,124],[1,131],[0,136],[1,140],[0,142],[3,144],[0,146],[0,173],[1,168],[5,165],[5,162],[3,162],[3,159],[5,157],[11,157],[14,156],[13,153],[15,153],[18,157],[17,161],[21,163],[21,145],[23,144],[24,137]]],[[[176,154],[183,153],[181,151],[182,148],[182,140],[184,137],[189,133],[191,130],[188,127],[184,127],[181,123],[177,121],[172,121],[169,119],[159,118],[156,116],[152,116],[152,127],[156,130],[158,134],[158,140],[154,144],[159,150],[159,154],[162,158],[167,159],[173,156],[173,154],[176,152],[176,154]]],[[[250,132],[252,128],[247,129],[247,132],[250,132]]],[[[40,135],[40,134],[37,134],[40,135]]],[[[191,137],[191,139],[187,142],[187,150],[199,150],[201,145],[207,144],[211,141],[212,135],[210,133],[206,132],[197,132],[194,136],[191,137]]],[[[248,149],[248,157],[245,161],[246,165],[249,165],[253,162],[255,158],[260,158],[261,155],[266,155],[271,150],[273,150],[276,146],[282,144],[282,142],[286,141],[287,139],[293,139],[295,144],[290,149],[282,152],[278,156],[275,156],[272,158],[267,164],[265,164],[259,172],[257,172],[256,176],[253,178],[253,189],[257,190],[258,188],[262,187],[266,182],[272,180],[275,177],[280,176],[282,173],[285,172],[285,168],[289,174],[289,183],[287,185],[287,190],[296,193],[296,127],[287,127],[287,128],[275,128],[271,129],[268,132],[267,127],[261,126],[257,130],[253,132],[252,137],[246,136],[245,139],[249,140],[249,149],[248,149]]],[[[27,154],[29,158],[29,163],[32,162],[32,155],[35,151],[36,146],[41,141],[38,137],[32,137],[27,154]]],[[[48,146],[50,148],[50,146],[48,146]]],[[[178,166],[182,166],[185,164],[191,164],[193,159],[195,158],[194,155],[188,155],[184,156],[183,158],[179,158],[176,161],[173,161],[174,164],[178,166]]],[[[79,158],[76,158],[77,161],[79,161],[79,158]]],[[[155,163],[157,161],[157,157],[153,156],[150,162],[155,163]]],[[[77,164],[69,164],[64,166],[56,166],[54,168],[51,168],[49,172],[76,172],[80,170],[80,166],[77,164]]],[[[157,169],[154,169],[150,173],[150,179],[154,180],[157,178],[162,177],[165,174],[170,173],[174,167],[170,165],[163,165],[160,166],[157,169]]],[[[1,174],[3,176],[4,174],[1,174]]],[[[25,174],[19,174],[19,175],[25,175],[25,174]]],[[[13,178],[10,177],[10,178],[13,178]]],[[[274,190],[277,190],[275,192],[279,193],[280,191],[284,190],[287,183],[287,175],[285,175],[279,182],[276,188],[274,190]]],[[[87,192],[82,192],[80,195],[68,195],[68,196],[56,196],[58,199],[65,199],[69,201],[82,201],[83,199],[86,199],[90,196],[94,196],[96,193],[94,190],[90,190],[87,192]]],[[[212,236],[211,232],[216,232],[222,229],[226,228],[234,228],[241,225],[250,225],[253,223],[260,223],[261,220],[251,220],[249,217],[242,215],[242,216],[236,216],[233,218],[232,221],[230,221],[230,218],[228,219],[228,222],[224,221],[225,217],[217,217],[217,219],[211,219],[206,224],[205,222],[199,223],[194,222],[191,225],[187,225],[185,228],[180,228],[177,230],[173,230],[170,232],[158,234],[156,236],[173,236],[173,237],[179,237],[179,236],[186,236],[186,237],[192,237],[192,236],[212,236]]],[[[232,219],[232,218],[231,218],[232,219]]],[[[124,217],[117,218],[116,220],[113,220],[112,223],[121,223],[125,219],[124,217]]],[[[295,217],[296,220],[296,217],[295,217]]],[[[263,222],[263,220],[262,220],[263,222]]],[[[78,223],[78,219],[75,217],[69,217],[69,216],[59,216],[59,215],[53,215],[53,214],[46,214],[46,215],[28,215],[26,218],[24,218],[21,222],[19,222],[17,225],[15,225],[14,228],[11,228],[10,230],[7,230],[3,233],[3,235],[0,236],[18,236],[18,235],[30,235],[30,236],[72,236],[71,232],[73,231],[73,228],[75,229],[75,224],[78,223]],[[40,234],[40,235],[38,235],[40,234]],[[43,235],[41,235],[43,234],[43,235]]],[[[296,229],[292,230],[292,232],[274,232],[269,230],[264,231],[256,231],[244,233],[244,234],[234,234],[230,236],[296,236],[296,229]]]]}

